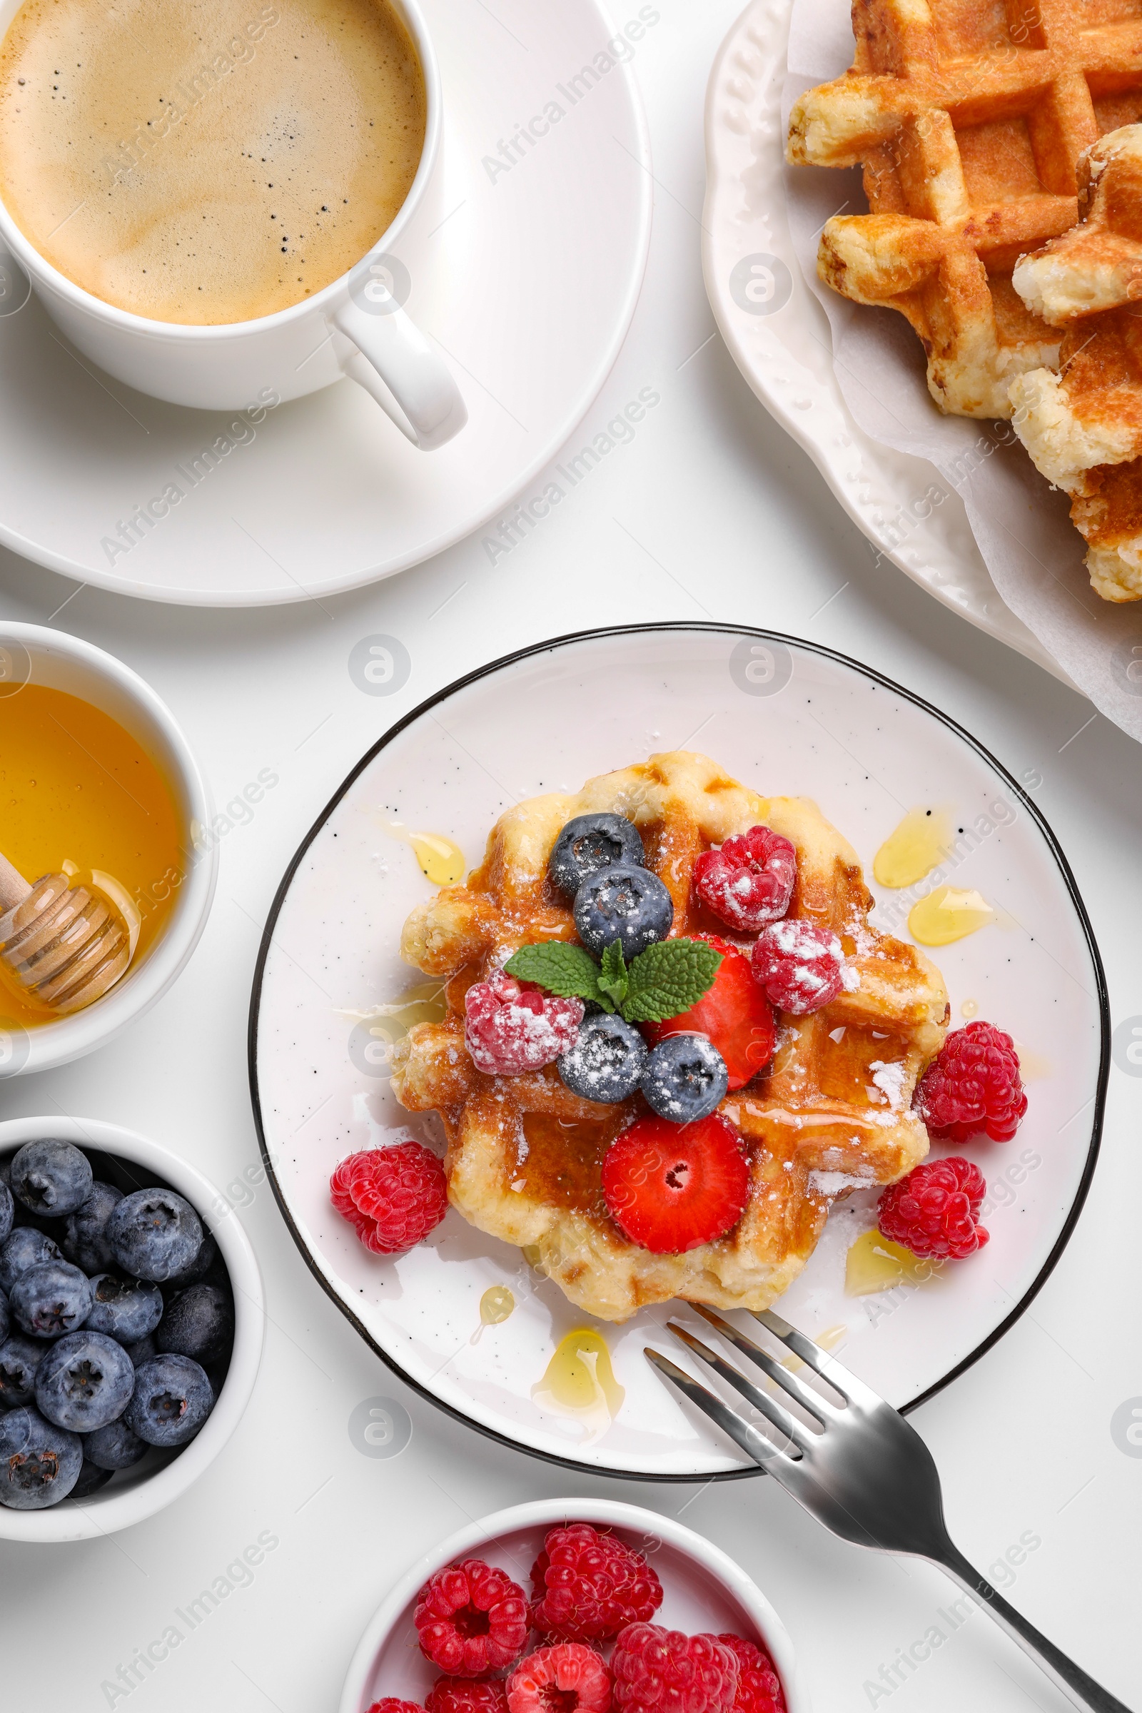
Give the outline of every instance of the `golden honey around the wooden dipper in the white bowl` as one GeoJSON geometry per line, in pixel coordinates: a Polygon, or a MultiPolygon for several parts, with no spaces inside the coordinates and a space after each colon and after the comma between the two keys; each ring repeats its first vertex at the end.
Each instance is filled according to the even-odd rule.
{"type": "MultiPolygon", "coordinates": [[[[110,714],[39,683],[0,695],[0,850],[27,880],[62,870],[104,891],[135,959],[161,935],[187,872],[175,800],[151,757],[110,714]]],[[[0,1024],[55,1016],[0,982],[0,1024]]]]}

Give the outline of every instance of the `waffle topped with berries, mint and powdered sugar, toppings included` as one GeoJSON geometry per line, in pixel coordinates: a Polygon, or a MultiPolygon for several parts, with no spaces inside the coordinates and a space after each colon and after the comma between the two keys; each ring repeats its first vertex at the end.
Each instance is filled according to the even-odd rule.
{"type": "Polygon", "coordinates": [[[392,1088],[440,1113],[452,1206],[604,1321],[765,1309],[839,1194],[928,1151],[947,994],[871,904],[812,802],[704,755],[510,809],[401,942],[445,980],[392,1088]]]}

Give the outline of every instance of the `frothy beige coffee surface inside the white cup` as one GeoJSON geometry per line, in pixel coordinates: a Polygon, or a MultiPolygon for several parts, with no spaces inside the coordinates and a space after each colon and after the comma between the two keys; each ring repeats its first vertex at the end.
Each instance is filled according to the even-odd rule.
{"type": "Polygon", "coordinates": [[[377,243],[425,116],[385,0],[27,0],[0,45],[0,197],[104,303],[243,322],[377,243]]]}

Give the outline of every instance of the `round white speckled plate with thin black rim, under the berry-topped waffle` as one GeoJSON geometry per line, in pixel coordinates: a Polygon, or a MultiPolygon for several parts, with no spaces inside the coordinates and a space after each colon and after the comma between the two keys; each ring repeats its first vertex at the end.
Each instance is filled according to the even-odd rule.
{"type": "MultiPolygon", "coordinates": [[[[945,807],[964,831],[943,877],[993,906],[988,927],[933,952],[954,1024],[974,1006],[1015,1036],[1029,1077],[1017,1137],[962,1148],[988,1180],[990,1244],[930,1285],[849,1297],[848,1249],[875,1223],[873,1192],[858,1192],[836,1204],[781,1304],[810,1334],[844,1328],[841,1360],[894,1405],[919,1403],[974,1362],[1058,1259],[1097,1153],[1109,1026],[1082,899],[1031,798],[947,716],[827,649],[721,625],[563,637],[442,690],[365,755],[291,862],[257,966],[253,1108],[286,1221],[361,1336],[433,1403],[543,1458],[687,1480],[746,1468],[644,1358],[647,1338],[673,1345],[663,1328],[685,1305],[596,1322],[625,1400],[610,1425],[563,1415],[532,1393],[560,1338],[591,1321],[520,1250],[450,1209],[419,1247],[377,1257],[329,1203],[346,1155],[409,1131],[437,1144],[433,1120],[392,1096],[384,1053],[365,1050],[361,1014],[425,983],[401,963],[399,939],[433,889],[392,824],[454,839],[473,867],[512,803],[669,749],[704,750],[762,795],[815,798],[868,875],[906,810],[945,807]],[[481,1331],[493,1285],[517,1305],[481,1331]]],[[[909,894],[870,884],[873,922],[906,935],[911,903],[935,882],[909,894]]]]}

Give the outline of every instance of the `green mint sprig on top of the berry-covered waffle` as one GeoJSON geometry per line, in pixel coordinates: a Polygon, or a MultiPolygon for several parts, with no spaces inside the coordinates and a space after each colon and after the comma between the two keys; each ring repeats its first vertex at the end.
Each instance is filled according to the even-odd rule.
{"type": "Polygon", "coordinates": [[[627,1023],[664,1023],[709,994],[723,954],[705,940],[657,940],[627,964],[620,940],[596,963],[582,946],[546,940],[520,946],[503,964],[517,982],[532,982],[560,999],[586,999],[618,1011],[627,1023]]]}

